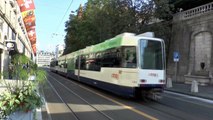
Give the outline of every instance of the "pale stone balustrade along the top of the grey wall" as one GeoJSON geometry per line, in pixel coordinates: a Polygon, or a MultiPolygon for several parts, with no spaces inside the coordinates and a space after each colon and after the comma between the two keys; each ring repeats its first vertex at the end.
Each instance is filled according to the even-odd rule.
{"type": "Polygon", "coordinates": [[[213,2],[183,12],[176,13],[173,16],[173,20],[174,21],[187,20],[210,12],[213,12],[213,2]]]}

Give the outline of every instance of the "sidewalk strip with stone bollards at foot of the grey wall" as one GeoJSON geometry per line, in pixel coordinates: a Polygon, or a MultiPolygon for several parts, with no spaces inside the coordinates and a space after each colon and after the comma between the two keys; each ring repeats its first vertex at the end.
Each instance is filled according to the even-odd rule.
{"type": "Polygon", "coordinates": [[[191,92],[191,84],[172,83],[172,86],[172,88],[165,88],[165,90],[213,100],[212,85],[198,86],[198,93],[191,92]]]}

